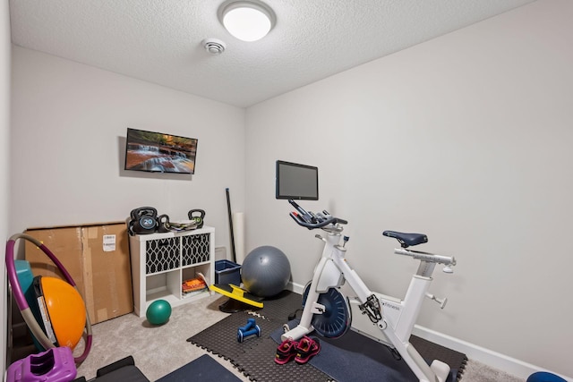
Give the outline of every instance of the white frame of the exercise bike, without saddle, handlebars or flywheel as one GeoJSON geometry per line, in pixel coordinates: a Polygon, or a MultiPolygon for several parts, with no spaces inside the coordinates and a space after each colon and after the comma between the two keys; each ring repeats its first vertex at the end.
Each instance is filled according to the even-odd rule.
{"type": "Polygon", "coordinates": [[[386,344],[398,351],[406,364],[415,373],[415,376],[423,382],[444,382],[449,375],[449,365],[442,361],[434,360],[432,365],[423,360],[422,356],[410,344],[409,339],[416,318],[422,307],[423,297],[440,303],[441,308],[446,304],[446,299],[437,299],[428,293],[428,288],[432,283],[432,273],[436,264],[444,264],[444,272],[451,273],[450,266],[456,265],[456,259],[448,256],[433,255],[431,253],[406,250],[399,248],[395,253],[413,257],[420,260],[420,267],[408,286],[404,300],[396,299],[385,294],[374,293],[363,280],[352,269],[346,259],[346,248],[340,245],[342,227],[339,225],[329,225],[322,228],[329,234],[326,238],[316,235],[325,242],[321,260],[314,269],[312,284],[308,290],[306,302],[304,304],[303,315],[300,324],[282,335],[282,340],[291,338],[297,340],[314,330],[312,327],[312,317],[315,314],[322,314],[325,307],[318,300],[321,293],[326,293],[330,288],[338,288],[346,283],[355,292],[355,297],[349,299],[352,312],[351,329],[362,335],[366,335],[373,340],[386,344]],[[363,314],[360,307],[367,303],[374,295],[380,301],[379,314],[381,319],[372,322],[367,314],[363,314]]]}

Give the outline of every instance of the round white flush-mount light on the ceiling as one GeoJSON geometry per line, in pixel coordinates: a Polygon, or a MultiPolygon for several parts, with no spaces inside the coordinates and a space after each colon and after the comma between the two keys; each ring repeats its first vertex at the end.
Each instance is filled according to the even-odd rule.
{"type": "Polygon", "coordinates": [[[277,16],[259,0],[227,0],[218,8],[218,20],[235,38],[257,41],[272,30],[277,16]]]}

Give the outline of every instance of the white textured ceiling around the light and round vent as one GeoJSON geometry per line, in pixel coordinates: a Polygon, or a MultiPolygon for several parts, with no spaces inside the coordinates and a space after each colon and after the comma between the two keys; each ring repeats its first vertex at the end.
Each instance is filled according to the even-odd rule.
{"type": "Polygon", "coordinates": [[[235,106],[265,99],[534,0],[265,0],[266,38],[243,42],[224,0],[10,0],[15,45],[235,106]],[[210,55],[204,38],[227,44],[210,55]]]}

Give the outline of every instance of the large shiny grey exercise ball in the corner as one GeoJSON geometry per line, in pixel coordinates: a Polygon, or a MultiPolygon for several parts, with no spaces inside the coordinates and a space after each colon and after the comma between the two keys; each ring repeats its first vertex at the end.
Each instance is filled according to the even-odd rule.
{"type": "Polygon", "coordinates": [[[263,245],[244,258],[241,279],[246,290],[255,296],[274,296],[281,293],[288,284],[290,263],[282,250],[263,245]]]}

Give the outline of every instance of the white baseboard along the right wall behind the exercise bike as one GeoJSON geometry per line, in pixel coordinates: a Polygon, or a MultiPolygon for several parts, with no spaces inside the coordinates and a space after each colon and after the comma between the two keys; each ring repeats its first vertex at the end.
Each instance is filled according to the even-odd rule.
{"type": "MultiPolygon", "coordinates": [[[[304,285],[291,283],[288,285],[288,289],[295,293],[302,294],[304,291],[304,285]]],[[[532,365],[531,363],[519,361],[505,354],[501,354],[500,352],[493,352],[492,350],[483,348],[476,344],[470,344],[450,335],[441,334],[427,327],[415,325],[412,334],[417,335],[424,340],[431,341],[434,344],[440,344],[441,346],[446,346],[457,352],[463,352],[470,360],[482,362],[487,366],[505,371],[506,373],[514,375],[517,378],[523,378],[524,380],[537,371],[548,371],[555,375],[559,375],[552,370],[543,369],[532,365]]],[[[573,378],[565,376],[560,377],[573,382],[573,378]]]]}

